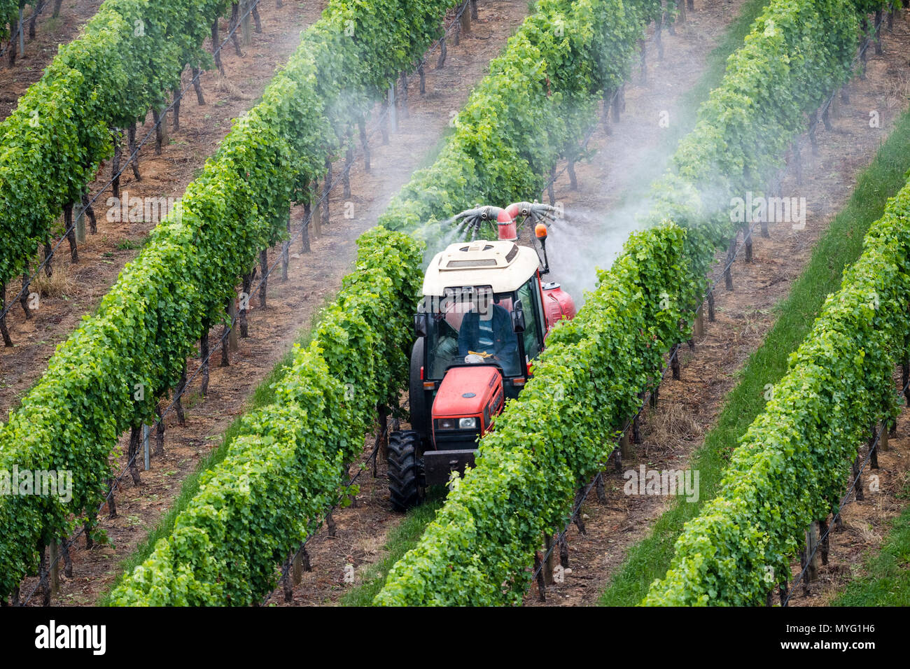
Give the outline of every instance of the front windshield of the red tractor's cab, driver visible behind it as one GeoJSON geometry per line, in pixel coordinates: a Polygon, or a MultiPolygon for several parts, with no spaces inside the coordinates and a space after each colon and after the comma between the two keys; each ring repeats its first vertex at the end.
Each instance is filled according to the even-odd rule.
{"type": "MultiPolygon", "coordinates": [[[[427,372],[440,380],[452,365],[497,364],[507,377],[521,376],[519,335],[512,331],[515,293],[493,293],[483,287],[450,289],[426,309],[427,372]]],[[[522,305],[522,309],[524,306],[522,305]]]]}

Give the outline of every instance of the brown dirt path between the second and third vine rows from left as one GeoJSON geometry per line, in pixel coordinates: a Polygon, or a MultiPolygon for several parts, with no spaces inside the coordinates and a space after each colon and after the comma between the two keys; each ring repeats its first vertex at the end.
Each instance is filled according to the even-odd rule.
{"type": "MultiPolygon", "coordinates": [[[[427,68],[426,95],[420,96],[415,78],[409,91],[409,114],[403,117],[399,110],[399,130],[391,133],[389,145],[381,146],[377,134],[370,142],[372,169],[365,172],[358,159],[351,170],[352,197],[347,201],[341,198],[340,187],[332,192],[331,222],[323,227],[321,237],[311,239],[312,252],[300,254],[299,241],[291,248],[288,281],[280,281],[280,269],[268,281],[267,309],[260,309],[258,293],[251,299],[249,338],[239,340],[239,350],[230,354],[229,367],[218,367],[220,355],[213,356],[207,398],[201,396],[198,380],[187,391],[184,401],[187,423],[177,425],[173,416],[166,421],[165,456],[152,461],[151,471],[142,472],[141,485],[134,487],[125,480],[116,492],[116,519],[108,519],[105,515],[100,522],[109,542],[96,544],[91,550],[86,550],[82,539],[77,542],[72,555],[74,577],[65,580],[61,596],[54,603],[94,603],[113,583],[120,561],[135,550],[167,512],[181,482],[194,471],[199,459],[217,445],[235,416],[244,411],[250,393],[288,350],[298,330],[311,322],[325,300],[339,289],[354,258],[356,238],[375,225],[379,214],[388,206],[389,198],[407,183],[413,170],[437,146],[449,122],[450,111],[464,104],[471,86],[485,75],[490,58],[500,52],[508,35],[521,24],[527,11],[527,4],[521,0],[481,2],[480,18],[472,23],[470,35],[462,35],[459,46],[449,41],[445,66],[435,69],[437,55],[430,58],[433,65],[427,68]],[[344,218],[348,202],[353,203],[353,218],[344,218]]],[[[447,22],[450,20],[451,17],[447,22]]],[[[227,62],[226,66],[230,67],[227,62]]],[[[351,211],[349,205],[347,209],[351,211]]],[[[302,218],[302,208],[292,212],[291,219],[297,225],[302,218]]],[[[269,251],[270,262],[275,260],[276,253],[276,249],[269,251]]],[[[98,290],[103,292],[103,289],[98,290]]],[[[212,330],[210,344],[213,349],[220,335],[220,328],[212,330]]],[[[189,360],[190,375],[198,365],[199,360],[189,360]]],[[[128,435],[124,435],[121,439],[123,452],[127,438],[128,435]]],[[[118,471],[125,461],[122,452],[118,453],[118,471]]],[[[368,485],[361,485],[361,497],[368,497],[368,491],[368,485]]],[[[388,529],[390,522],[397,522],[399,517],[387,510],[385,495],[377,499],[377,503],[382,506],[383,528],[388,529]]],[[[339,522],[339,528],[341,526],[339,522]]],[[[382,528],[375,528],[373,532],[379,544],[381,532],[382,528]]],[[[317,563],[316,559],[314,563],[317,563]]],[[[24,583],[24,594],[31,592],[35,581],[29,579],[24,583]]],[[[39,600],[40,596],[36,596],[32,603],[37,604],[39,600]]]]}

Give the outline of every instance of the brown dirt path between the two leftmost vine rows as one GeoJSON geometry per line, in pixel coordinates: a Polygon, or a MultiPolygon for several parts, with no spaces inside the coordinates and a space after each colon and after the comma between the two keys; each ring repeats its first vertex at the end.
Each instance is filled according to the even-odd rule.
{"type": "MultiPolygon", "coordinates": [[[[262,94],[278,66],[284,65],[300,43],[300,31],[319,18],[324,0],[293,0],[280,9],[274,3],[262,3],[261,34],[253,34],[252,44],[243,47],[238,57],[228,44],[222,51],[227,77],[207,72],[201,78],[205,106],[197,104],[192,87],[180,110],[180,129],[171,130],[169,142],[160,156],[155,153],[155,137],[142,147],[139,155],[141,181],[136,181],[129,168],[121,177],[121,200],[131,198],[179,198],[187,184],[197,176],[207,157],[217,149],[227,135],[231,120],[242,115],[262,94]]],[[[221,33],[227,35],[227,23],[221,33]]],[[[207,45],[210,51],[211,46],[207,45]]],[[[188,71],[184,86],[189,85],[188,71]]],[[[146,137],[153,127],[151,114],[145,127],[139,127],[137,141],[146,137]]],[[[95,196],[111,177],[110,165],[99,171],[100,177],[91,186],[95,196]]],[[[25,319],[22,309],[15,305],[6,316],[15,346],[0,347],[0,415],[14,408],[47,367],[57,344],[76,328],[83,314],[91,313],[104,297],[127,262],[136,258],[148,232],[162,216],[150,208],[139,208],[139,215],[122,216],[122,207],[111,198],[108,188],[96,201],[98,231],[88,235],[79,245],[79,262],[70,263],[66,242],[52,258],[53,276],[41,273],[30,289],[40,294],[35,318],[25,319]],[[146,218],[148,214],[148,218],[146,218]],[[121,218],[126,221],[121,222],[121,218]]],[[[63,232],[62,222],[56,226],[56,236],[63,232]]],[[[7,287],[7,299],[12,301],[21,284],[12,281],[7,287]]]]}

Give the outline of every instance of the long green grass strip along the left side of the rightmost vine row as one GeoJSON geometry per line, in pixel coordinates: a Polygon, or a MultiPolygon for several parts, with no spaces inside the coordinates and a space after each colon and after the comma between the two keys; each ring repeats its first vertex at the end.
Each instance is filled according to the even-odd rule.
{"type": "Polygon", "coordinates": [[[910,169],[910,114],[898,119],[875,159],[860,175],[853,196],[814,248],[790,295],[775,308],[776,320],[762,346],[738,372],[740,381],[727,396],[723,411],[704,443],[693,454],[699,471],[699,502],[677,502],[654,523],[652,534],[636,544],[602,594],[604,606],[633,606],[642,601],[654,579],[662,578],[673,556],[683,524],[717,494],[730,453],[764,407],[764,387],[784,376],[790,353],[811,329],[829,293],[840,288],[844,269],[855,262],[869,226],[881,218],[887,198],[903,188],[910,169]]]}

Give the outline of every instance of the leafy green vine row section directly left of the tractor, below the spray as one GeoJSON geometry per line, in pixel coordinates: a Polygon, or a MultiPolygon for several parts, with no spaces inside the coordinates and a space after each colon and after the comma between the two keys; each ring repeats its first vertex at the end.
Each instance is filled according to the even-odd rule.
{"type": "Polygon", "coordinates": [[[362,449],[377,403],[407,379],[421,279],[421,249],[409,236],[374,228],[358,246],[357,269],[278,381],[276,401],[244,417],[227,458],[204,475],[175,531],[117,587],[113,603],[258,603],[274,587],[275,565],[345,503],[342,465],[362,449]],[[386,365],[392,374],[372,372],[386,365]]]}

